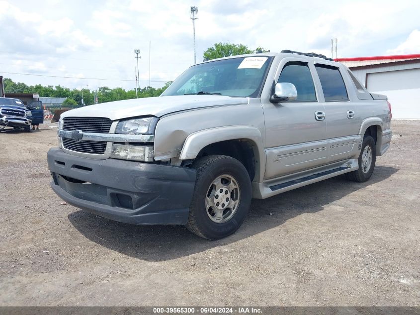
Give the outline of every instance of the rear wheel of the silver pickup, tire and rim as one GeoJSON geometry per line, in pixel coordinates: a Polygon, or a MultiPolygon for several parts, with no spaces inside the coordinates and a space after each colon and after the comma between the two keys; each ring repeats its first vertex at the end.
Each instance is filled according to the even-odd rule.
{"type": "Polygon", "coordinates": [[[363,139],[362,149],[358,158],[359,169],[346,173],[346,178],[350,181],[363,183],[366,182],[373,173],[376,163],[376,144],[371,136],[363,139]]]}

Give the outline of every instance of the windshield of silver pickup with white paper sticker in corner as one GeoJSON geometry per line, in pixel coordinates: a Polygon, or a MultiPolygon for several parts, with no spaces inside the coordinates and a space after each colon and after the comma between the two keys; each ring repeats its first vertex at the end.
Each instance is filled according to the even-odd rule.
{"type": "Polygon", "coordinates": [[[241,57],[192,66],[162,96],[215,94],[258,97],[272,57],[241,57]]]}

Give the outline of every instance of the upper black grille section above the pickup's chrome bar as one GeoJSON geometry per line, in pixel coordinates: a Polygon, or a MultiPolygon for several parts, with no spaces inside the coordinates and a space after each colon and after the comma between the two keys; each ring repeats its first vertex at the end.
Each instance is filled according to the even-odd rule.
{"type": "Polygon", "coordinates": [[[83,132],[109,133],[111,124],[111,119],[102,117],[63,118],[63,129],[69,131],[82,130],[83,132]]]}

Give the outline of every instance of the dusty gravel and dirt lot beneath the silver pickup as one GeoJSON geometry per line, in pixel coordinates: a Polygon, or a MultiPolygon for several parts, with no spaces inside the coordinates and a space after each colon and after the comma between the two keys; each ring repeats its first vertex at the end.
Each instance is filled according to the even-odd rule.
{"type": "Polygon", "coordinates": [[[393,122],[369,182],[255,200],[220,241],[61,205],[44,126],[0,134],[1,306],[420,305],[419,121],[393,122]]]}

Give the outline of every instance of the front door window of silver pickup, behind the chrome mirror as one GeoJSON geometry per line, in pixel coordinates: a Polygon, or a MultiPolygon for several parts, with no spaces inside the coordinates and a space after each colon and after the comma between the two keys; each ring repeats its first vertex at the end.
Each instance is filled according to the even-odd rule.
{"type": "Polygon", "coordinates": [[[317,100],[314,81],[308,64],[292,61],[286,63],[277,83],[288,82],[296,87],[298,97],[292,102],[314,102],[317,100]]]}

